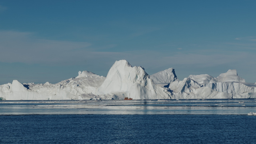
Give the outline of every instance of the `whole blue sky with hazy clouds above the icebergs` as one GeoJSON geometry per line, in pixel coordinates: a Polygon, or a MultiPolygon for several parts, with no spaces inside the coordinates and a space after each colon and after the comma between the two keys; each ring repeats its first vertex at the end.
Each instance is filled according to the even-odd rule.
{"type": "Polygon", "coordinates": [[[0,0],[0,84],[57,83],[116,60],[256,82],[256,0],[0,0]]]}

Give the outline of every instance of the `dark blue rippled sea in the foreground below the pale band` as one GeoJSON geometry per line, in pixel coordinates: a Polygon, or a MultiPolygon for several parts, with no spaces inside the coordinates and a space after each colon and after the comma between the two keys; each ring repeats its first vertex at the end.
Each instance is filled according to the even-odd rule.
{"type": "Polygon", "coordinates": [[[0,116],[0,143],[253,144],[256,116],[0,116]]]}

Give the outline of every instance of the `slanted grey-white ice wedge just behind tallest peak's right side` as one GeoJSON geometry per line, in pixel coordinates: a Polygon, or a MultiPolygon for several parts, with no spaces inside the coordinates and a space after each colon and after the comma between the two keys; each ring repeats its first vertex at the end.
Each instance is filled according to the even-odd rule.
{"type": "Polygon", "coordinates": [[[171,83],[175,80],[178,80],[173,68],[168,68],[167,70],[152,74],[150,79],[152,79],[155,84],[171,83]]]}

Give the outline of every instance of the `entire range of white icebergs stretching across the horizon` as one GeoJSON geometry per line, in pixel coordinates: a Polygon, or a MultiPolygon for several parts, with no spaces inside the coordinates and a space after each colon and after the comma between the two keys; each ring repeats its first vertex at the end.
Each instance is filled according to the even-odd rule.
{"type": "Polygon", "coordinates": [[[246,83],[236,70],[214,78],[208,74],[190,75],[178,80],[174,69],[149,76],[141,66],[126,60],[116,61],[106,77],[79,71],[76,78],[57,84],[0,85],[0,97],[6,100],[99,100],[99,99],[222,99],[256,98],[256,83],[246,83]]]}

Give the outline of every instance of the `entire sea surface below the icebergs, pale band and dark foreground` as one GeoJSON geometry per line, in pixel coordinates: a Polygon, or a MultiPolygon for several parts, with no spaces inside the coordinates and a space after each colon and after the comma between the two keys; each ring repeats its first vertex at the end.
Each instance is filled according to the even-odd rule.
{"type": "Polygon", "coordinates": [[[0,101],[0,144],[255,144],[256,100],[0,101]]]}

